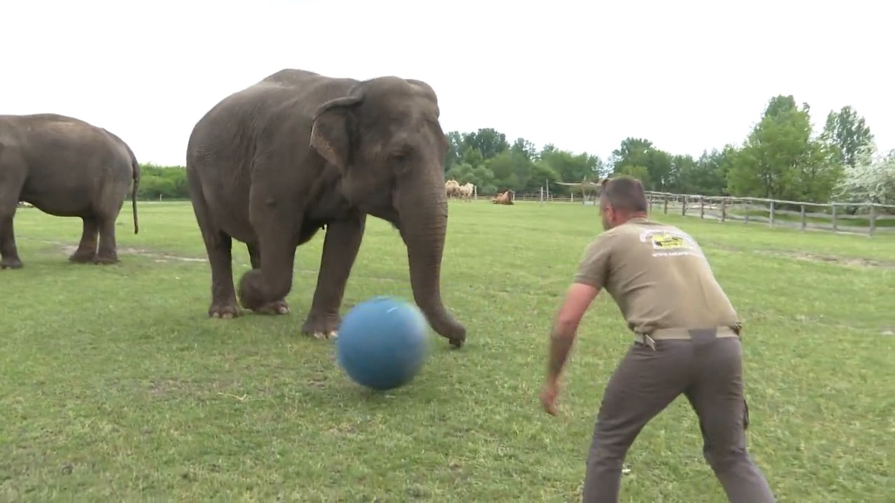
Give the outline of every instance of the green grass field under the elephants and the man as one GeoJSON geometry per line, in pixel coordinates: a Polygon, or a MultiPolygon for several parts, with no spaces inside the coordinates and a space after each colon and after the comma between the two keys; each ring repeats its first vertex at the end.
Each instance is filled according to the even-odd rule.
{"type": "MultiPolygon", "coordinates": [[[[568,363],[565,415],[537,392],[596,209],[452,202],[443,293],[468,342],[433,334],[428,365],[388,394],[299,333],[322,236],[298,252],[290,314],[211,320],[189,203],[140,212],[135,236],[123,210],[122,262],[107,267],[67,263],[80,220],[16,216],[25,268],[0,271],[0,500],[580,500],[602,390],[632,340],[608,296],[568,363]]],[[[703,244],[745,322],[750,448],[780,501],[891,501],[895,235],[658,217],[703,244]]],[[[345,309],[410,298],[396,231],[367,229],[345,309]]],[[[234,260],[238,277],[244,246],[234,260]]],[[[626,466],[622,501],[726,500],[684,398],[626,466]]]]}

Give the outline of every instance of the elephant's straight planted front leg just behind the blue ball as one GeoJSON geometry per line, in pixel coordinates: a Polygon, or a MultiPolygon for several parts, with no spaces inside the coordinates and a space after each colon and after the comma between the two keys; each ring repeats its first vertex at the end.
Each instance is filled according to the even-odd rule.
{"type": "Polygon", "coordinates": [[[327,225],[317,288],[314,289],[311,312],[302,327],[303,334],[317,338],[337,337],[342,321],[338,310],[357,252],[361,249],[365,224],[366,215],[361,215],[327,225]]]}

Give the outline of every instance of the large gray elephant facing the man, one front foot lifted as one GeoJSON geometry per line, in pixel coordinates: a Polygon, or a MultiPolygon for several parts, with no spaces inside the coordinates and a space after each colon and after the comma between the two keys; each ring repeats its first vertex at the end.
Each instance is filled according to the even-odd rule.
{"type": "Polygon", "coordinates": [[[413,298],[452,345],[466,329],[441,300],[447,230],[447,138],[435,91],[422,81],[337,79],[281,70],[211,108],[192,130],[186,171],[211,265],[209,316],[234,318],[232,239],[251,270],[239,303],[288,312],[296,247],[326,228],[302,331],[334,337],[366,216],[396,227],[407,247],[413,298]]]}

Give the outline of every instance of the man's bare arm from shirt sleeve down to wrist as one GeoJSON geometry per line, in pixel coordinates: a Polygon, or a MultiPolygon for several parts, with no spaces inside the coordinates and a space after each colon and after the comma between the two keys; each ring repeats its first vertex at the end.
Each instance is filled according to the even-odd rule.
{"type": "Polygon", "coordinates": [[[573,283],[568,287],[566,299],[557,311],[550,330],[550,359],[547,364],[548,382],[556,382],[566,364],[568,353],[575,344],[578,324],[593,299],[600,293],[599,288],[573,283]]]}

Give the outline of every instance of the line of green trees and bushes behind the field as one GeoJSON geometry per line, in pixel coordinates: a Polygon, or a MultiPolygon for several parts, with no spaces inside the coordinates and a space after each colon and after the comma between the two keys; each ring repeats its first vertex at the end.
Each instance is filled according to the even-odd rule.
{"type": "MultiPolygon", "coordinates": [[[[447,132],[445,177],[472,182],[480,194],[512,189],[567,194],[558,182],[632,175],[651,191],[777,200],[895,204],[895,150],[880,152],[864,117],[852,107],[831,111],[814,131],[811,108],[793,96],[768,101],[739,144],[673,154],[644,138],[628,137],[606,158],[524,138],[509,141],[492,128],[447,132]]],[[[574,190],[574,189],[571,189],[574,190]]],[[[188,199],[183,166],[142,166],[141,200],[188,199]]]]}

